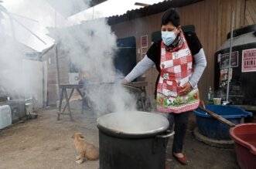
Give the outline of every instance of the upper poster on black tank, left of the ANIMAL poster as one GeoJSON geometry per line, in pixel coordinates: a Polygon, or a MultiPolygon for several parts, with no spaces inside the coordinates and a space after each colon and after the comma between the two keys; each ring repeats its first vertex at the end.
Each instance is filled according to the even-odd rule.
{"type": "MultiPolygon", "coordinates": [[[[220,55],[220,69],[228,68],[230,53],[220,55]]],[[[238,67],[238,51],[232,52],[230,67],[238,67]]]]}

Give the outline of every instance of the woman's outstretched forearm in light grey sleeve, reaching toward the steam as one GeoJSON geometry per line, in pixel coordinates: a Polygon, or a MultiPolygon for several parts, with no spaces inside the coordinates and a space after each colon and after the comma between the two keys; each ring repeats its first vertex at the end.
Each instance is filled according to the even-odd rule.
{"type": "Polygon", "coordinates": [[[138,76],[141,76],[154,65],[155,63],[152,61],[152,59],[149,59],[148,56],[145,55],[145,57],[135,66],[135,68],[131,70],[131,73],[125,76],[125,80],[127,81],[127,83],[131,83],[132,80],[134,80],[138,76]]]}

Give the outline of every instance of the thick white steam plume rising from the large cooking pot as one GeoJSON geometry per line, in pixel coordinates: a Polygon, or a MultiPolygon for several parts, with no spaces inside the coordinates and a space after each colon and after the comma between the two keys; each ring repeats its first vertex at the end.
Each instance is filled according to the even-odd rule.
{"type": "Polygon", "coordinates": [[[97,19],[57,30],[52,34],[58,37],[60,48],[67,51],[74,65],[90,75],[86,93],[94,112],[101,115],[135,110],[135,96],[121,84],[114,84],[119,74],[113,63],[117,39],[107,21],[97,19]]]}

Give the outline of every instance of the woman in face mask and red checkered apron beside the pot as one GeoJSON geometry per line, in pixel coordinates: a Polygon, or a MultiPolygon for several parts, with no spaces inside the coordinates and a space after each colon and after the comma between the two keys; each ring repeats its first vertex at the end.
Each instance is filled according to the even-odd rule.
{"type": "Polygon", "coordinates": [[[144,59],[122,83],[130,83],[155,65],[159,71],[155,87],[156,110],[168,113],[170,130],[175,124],[172,155],[181,164],[188,164],[183,142],[189,113],[200,104],[197,83],[207,60],[196,34],[181,29],[179,13],[174,8],[162,16],[161,31],[162,40],[152,44],[144,59]]]}

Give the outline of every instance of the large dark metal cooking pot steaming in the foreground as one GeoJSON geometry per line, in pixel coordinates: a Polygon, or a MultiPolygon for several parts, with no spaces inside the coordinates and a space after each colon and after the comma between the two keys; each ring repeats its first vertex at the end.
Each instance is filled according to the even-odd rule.
{"type": "Polygon", "coordinates": [[[164,169],[169,121],[155,113],[109,113],[97,119],[100,169],[164,169]]]}

